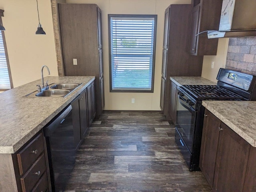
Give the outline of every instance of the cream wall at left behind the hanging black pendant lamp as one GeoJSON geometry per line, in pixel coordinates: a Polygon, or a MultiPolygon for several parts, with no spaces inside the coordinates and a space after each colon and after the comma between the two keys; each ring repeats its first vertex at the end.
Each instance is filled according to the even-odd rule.
{"type": "Polygon", "coordinates": [[[4,10],[2,21],[14,87],[40,79],[42,65],[49,67],[52,76],[58,76],[50,0],[38,0],[46,35],[35,34],[36,0],[1,0],[0,9],[4,10]]]}

